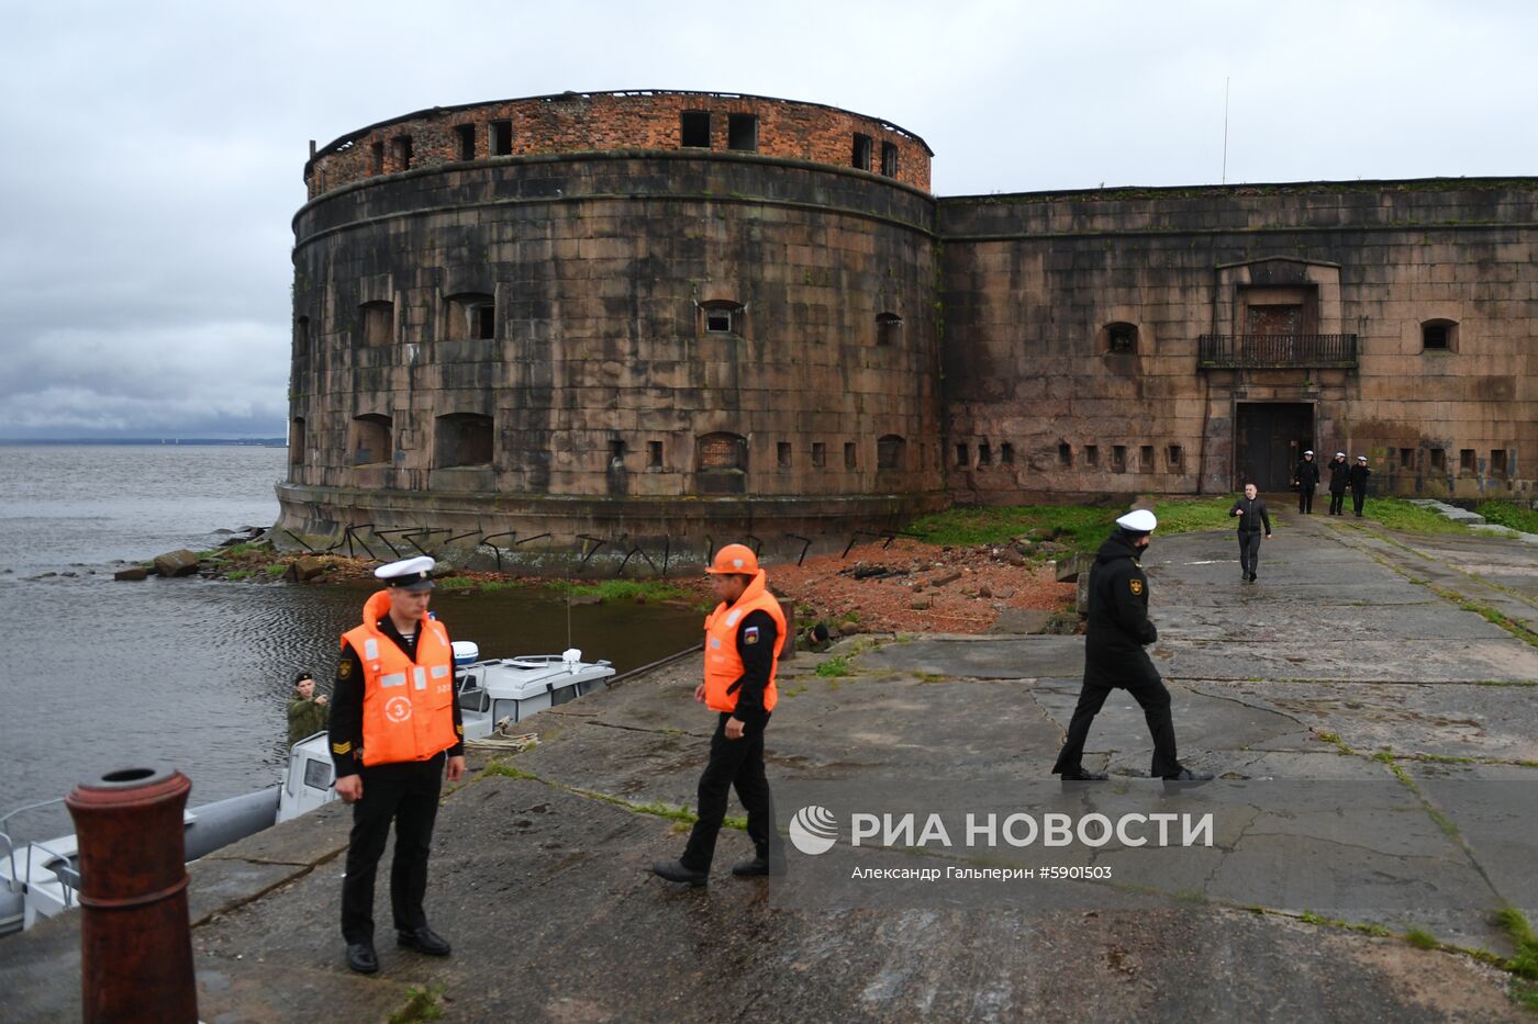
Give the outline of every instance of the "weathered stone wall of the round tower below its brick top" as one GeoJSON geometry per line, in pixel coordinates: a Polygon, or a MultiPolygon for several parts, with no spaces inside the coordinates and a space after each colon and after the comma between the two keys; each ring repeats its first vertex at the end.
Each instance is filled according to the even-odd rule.
{"type": "Polygon", "coordinates": [[[727,530],[757,515],[847,534],[929,507],[943,487],[932,217],[927,197],[866,175],[689,152],[457,165],[321,197],[295,218],[306,444],[285,517],[400,506],[408,523],[554,523],[569,540],[584,524],[700,537],[717,515],[727,530]],[[495,337],[446,340],[463,294],[495,298],[495,337]],[[372,301],[394,304],[389,344],[363,343],[372,301]],[[738,329],[704,329],[712,301],[741,306],[738,329]],[[903,318],[886,346],[883,312],[903,318]],[[435,460],[444,414],[492,418],[492,466],[435,460]],[[351,464],[360,415],[391,417],[388,466],[351,464]],[[697,500],[697,446],[715,432],[746,438],[741,501],[697,500]],[[877,464],[883,435],[906,441],[897,467],[877,464]]]}

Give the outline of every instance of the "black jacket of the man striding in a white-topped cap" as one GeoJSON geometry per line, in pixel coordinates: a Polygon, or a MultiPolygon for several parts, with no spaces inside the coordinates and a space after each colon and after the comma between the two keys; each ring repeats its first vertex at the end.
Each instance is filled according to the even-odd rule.
{"type": "Polygon", "coordinates": [[[1158,640],[1149,621],[1149,580],[1141,549],[1123,530],[1095,554],[1089,570],[1089,621],[1084,629],[1084,681],[1124,686],[1129,677],[1158,675],[1143,646],[1158,640]]]}

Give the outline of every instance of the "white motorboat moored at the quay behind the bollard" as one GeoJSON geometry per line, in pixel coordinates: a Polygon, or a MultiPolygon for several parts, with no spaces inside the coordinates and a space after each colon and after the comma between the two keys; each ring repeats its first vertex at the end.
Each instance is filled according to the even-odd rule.
{"type": "MultiPolygon", "coordinates": [[[[455,700],[466,740],[484,740],[498,727],[504,732],[537,712],[608,686],[614,675],[608,661],[583,661],[577,649],[488,661],[477,661],[478,657],[474,643],[454,641],[455,700]]],[[[305,736],[289,749],[280,786],[189,807],[183,813],[188,861],[332,803],[337,800],[335,781],[326,733],[305,736]]],[[[12,838],[14,818],[54,804],[63,804],[63,798],[0,816],[0,936],[77,903],[80,858],[74,835],[42,843],[12,838]]]]}

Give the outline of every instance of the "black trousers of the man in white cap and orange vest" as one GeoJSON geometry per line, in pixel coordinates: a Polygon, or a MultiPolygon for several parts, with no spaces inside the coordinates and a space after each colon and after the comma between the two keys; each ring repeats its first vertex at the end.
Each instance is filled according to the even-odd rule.
{"type": "Polygon", "coordinates": [[[341,881],[341,936],[374,941],[374,873],[389,823],[395,823],[395,858],[389,869],[389,903],[395,929],[409,932],[428,923],[421,899],[428,893],[428,853],[438,816],[443,755],[429,761],[375,764],[360,772],[363,800],[352,804],[348,839],[348,875],[341,881]]]}

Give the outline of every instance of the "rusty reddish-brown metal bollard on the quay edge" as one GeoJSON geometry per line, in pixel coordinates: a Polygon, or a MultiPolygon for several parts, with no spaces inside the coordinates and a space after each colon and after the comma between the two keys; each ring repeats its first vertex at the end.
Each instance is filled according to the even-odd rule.
{"type": "Polygon", "coordinates": [[[181,812],[171,767],[108,772],[65,798],[80,838],[83,1019],[195,1024],[181,812]]]}

